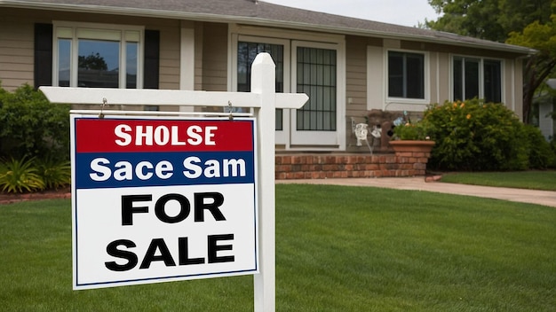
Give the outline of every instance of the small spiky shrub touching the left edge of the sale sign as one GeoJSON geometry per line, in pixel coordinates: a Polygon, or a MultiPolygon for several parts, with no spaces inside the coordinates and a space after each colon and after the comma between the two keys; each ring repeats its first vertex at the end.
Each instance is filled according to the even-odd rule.
{"type": "Polygon", "coordinates": [[[36,160],[36,169],[46,189],[58,190],[71,183],[71,166],[68,160],[46,157],[43,160],[36,160]]]}

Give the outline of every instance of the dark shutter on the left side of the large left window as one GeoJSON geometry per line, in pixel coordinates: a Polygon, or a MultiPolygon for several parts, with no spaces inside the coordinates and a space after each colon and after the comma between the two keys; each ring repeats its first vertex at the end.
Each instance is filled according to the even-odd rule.
{"type": "Polygon", "coordinates": [[[52,86],[52,24],[35,24],[35,88],[52,86]]]}

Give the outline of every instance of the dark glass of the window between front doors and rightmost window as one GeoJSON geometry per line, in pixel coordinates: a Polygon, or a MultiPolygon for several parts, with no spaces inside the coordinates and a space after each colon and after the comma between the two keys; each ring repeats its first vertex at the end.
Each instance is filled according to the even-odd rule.
{"type": "Polygon", "coordinates": [[[388,51],[388,98],[425,99],[425,55],[388,51]]]}

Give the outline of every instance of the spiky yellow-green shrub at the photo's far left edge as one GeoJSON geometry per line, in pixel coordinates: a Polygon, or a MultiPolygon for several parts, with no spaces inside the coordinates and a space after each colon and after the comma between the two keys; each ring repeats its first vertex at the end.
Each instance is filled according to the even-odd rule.
{"type": "Polygon", "coordinates": [[[6,192],[40,191],[44,189],[43,179],[33,166],[33,158],[0,161],[0,188],[6,192]]]}

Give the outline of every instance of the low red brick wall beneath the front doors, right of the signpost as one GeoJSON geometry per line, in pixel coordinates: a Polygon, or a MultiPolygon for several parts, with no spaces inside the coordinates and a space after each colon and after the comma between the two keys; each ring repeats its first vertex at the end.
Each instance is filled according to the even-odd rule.
{"type": "Polygon", "coordinates": [[[276,155],[277,180],[425,175],[430,153],[276,155]]]}

